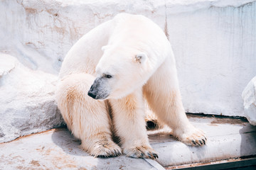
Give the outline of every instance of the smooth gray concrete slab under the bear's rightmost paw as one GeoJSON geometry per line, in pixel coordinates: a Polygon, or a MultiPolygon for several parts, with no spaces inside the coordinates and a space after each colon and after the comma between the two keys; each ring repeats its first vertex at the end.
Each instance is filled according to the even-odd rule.
{"type": "Polygon", "coordinates": [[[189,119],[193,125],[206,132],[207,145],[189,147],[174,140],[169,133],[151,132],[151,146],[159,153],[157,162],[162,166],[215,162],[256,155],[256,126],[247,121],[210,116],[190,116],[189,119]]]}

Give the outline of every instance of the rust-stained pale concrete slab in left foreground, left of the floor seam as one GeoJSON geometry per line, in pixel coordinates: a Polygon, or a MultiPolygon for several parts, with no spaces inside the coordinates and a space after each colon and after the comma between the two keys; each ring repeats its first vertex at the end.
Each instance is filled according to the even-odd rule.
{"type": "Polygon", "coordinates": [[[145,159],[89,156],[66,129],[49,130],[0,144],[0,169],[156,169],[145,159]]]}

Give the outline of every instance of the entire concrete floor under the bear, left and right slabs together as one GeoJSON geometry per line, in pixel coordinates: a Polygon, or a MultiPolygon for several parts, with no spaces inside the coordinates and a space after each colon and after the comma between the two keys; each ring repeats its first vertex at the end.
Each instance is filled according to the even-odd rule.
{"type": "Polygon", "coordinates": [[[188,147],[171,137],[170,130],[149,130],[151,146],[159,159],[90,157],[80,141],[63,129],[53,129],[0,144],[0,169],[164,169],[183,164],[254,157],[256,127],[238,118],[188,115],[208,135],[204,147],[188,147]]]}

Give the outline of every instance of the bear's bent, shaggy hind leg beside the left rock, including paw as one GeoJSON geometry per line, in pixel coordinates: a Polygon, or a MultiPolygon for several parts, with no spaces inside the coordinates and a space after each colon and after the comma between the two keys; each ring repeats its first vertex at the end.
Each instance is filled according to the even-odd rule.
{"type": "Polygon", "coordinates": [[[112,141],[110,118],[105,101],[87,96],[95,78],[90,74],[71,74],[58,84],[58,108],[82,149],[95,157],[115,157],[121,148],[112,141]]]}

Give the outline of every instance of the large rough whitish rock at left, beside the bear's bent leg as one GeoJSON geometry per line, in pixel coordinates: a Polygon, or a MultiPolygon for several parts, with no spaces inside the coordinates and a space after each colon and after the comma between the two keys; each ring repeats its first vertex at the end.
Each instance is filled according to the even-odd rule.
{"type": "Polygon", "coordinates": [[[0,142],[63,125],[55,103],[57,79],[0,54],[0,142]]]}

